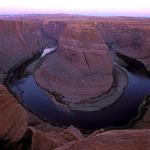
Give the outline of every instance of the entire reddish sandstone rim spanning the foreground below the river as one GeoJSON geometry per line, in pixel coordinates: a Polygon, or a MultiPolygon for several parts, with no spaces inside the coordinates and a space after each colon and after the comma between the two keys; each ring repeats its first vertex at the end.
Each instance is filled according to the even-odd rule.
{"type": "MultiPolygon", "coordinates": [[[[150,129],[101,130],[85,137],[72,126],[62,129],[47,124],[46,127],[43,121],[33,116],[28,120],[27,112],[3,85],[0,85],[0,104],[0,148],[3,150],[148,150],[150,148],[150,129]],[[39,128],[38,123],[44,126],[39,128]]],[[[28,115],[30,116],[30,113],[28,115]]]]}

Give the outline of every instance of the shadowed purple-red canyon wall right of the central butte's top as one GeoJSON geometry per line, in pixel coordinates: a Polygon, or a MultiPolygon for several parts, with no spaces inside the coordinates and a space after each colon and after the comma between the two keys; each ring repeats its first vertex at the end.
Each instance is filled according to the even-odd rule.
{"type": "Polygon", "coordinates": [[[104,19],[97,29],[110,50],[120,52],[150,67],[150,19],[104,19]]]}

